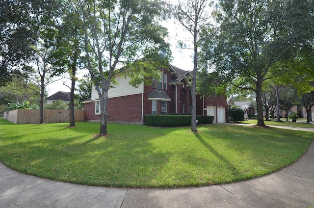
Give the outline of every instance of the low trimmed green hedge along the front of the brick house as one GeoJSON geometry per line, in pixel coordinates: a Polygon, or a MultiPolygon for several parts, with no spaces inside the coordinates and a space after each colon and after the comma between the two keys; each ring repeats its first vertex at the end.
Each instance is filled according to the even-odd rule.
{"type": "MultiPolygon", "coordinates": [[[[196,115],[197,124],[211,124],[213,116],[196,115]]],[[[145,125],[154,127],[181,127],[191,125],[191,115],[145,115],[145,125]]]]}

